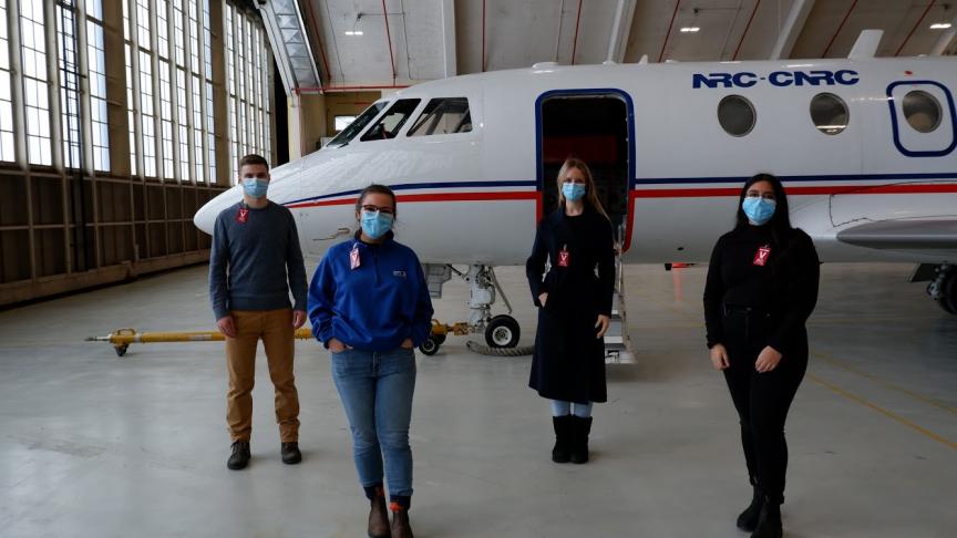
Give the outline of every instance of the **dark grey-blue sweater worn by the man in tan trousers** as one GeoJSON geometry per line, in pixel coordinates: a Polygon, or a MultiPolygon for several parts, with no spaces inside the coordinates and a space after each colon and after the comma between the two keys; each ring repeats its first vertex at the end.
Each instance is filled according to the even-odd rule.
{"type": "Polygon", "coordinates": [[[209,299],[216,319],[231,310],[289,308],[290,290],[292,309],[306,310],[306,266],[292,213],[270,201],[250,207],[240,223],[244,207],[240,201],[224,209],[213,229],[209,299]]]}

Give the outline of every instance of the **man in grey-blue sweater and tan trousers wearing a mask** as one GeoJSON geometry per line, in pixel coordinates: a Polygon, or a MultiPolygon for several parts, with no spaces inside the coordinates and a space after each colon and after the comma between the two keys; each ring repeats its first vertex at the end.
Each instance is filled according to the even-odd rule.
{"type": "Polygon", "coordinates": [[[266,198],[269,165],[265,158],[243,157],[239,180],[243,201],[216,218],[209,257],[209,298],[216,325],[226,337],[226,422],[233,437],[226,466],[234,470],[249,464],[256,345],[260,339],[276,389],[282,462],[302,461],[292,355],[295,331],[306,321],[306,266],[296,220],[289,209],[266,198]],[[295,304],[289,302],[290,291],[295,304]]]}

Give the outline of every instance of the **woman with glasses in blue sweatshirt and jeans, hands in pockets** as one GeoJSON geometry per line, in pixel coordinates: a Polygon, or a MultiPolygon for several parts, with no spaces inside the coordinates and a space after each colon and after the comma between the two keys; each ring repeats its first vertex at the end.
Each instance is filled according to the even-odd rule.
{"type": "Polygon", "coordinates": [[[395,194],[370,185],[356,201],[360,229],[333,246],[309,286],[312,334],[332,355],[359,480],[370,500],[369,536],[411,538],[409,423],[415,352],[432,328],[432,300],[415,252],[392,238],[395,194]],[[382,487],[389,480],[391,535],[382,487]]]}

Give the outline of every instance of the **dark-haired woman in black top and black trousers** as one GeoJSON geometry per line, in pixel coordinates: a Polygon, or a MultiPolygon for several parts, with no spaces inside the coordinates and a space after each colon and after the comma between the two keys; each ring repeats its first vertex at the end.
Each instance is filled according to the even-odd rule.
{"type": "Polygon", "coordinates": [[[781,182],[749,179],[738,224],[711,255],[704,319],[711,362],[724,372],[741,420],[753,497],[738,527],[752,538],[782,535],[784,421],[807,368],[804,323],[817,301],[817,266],[811,238],[791,227],[781,182]]]}

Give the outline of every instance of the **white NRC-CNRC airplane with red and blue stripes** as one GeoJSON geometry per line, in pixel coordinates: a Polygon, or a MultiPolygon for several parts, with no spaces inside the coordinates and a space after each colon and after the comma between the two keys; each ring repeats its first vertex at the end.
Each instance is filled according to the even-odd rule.
{"type": "MultiPolygon", "coordinates": [[[[397,238],[434,291],[451,265],[470,267],[469,323],[493,346],[515,345],[518,325],[491,317],[492,268],[525,262],[569,154],[589,164],[620,225],[624,263],[707,262],[744,179],[769,172],[823,261],[917,262],[915,280],[957,313],[955,90],[957,62],[941,58],[541,63],[455,76],[375,102],[321,151],[275,168],[269,197],[320,256],[354,229],[357,193],[390,185],[397,238]]],[[[212,232],[240,196],[210,200],[196,226],[212,232]]]]}

